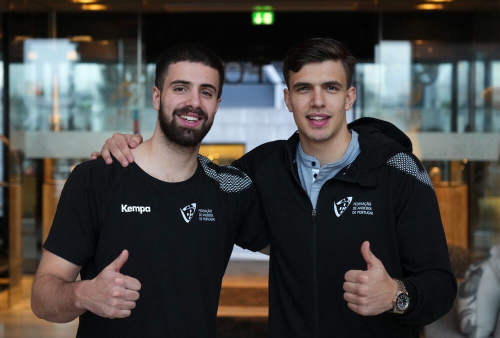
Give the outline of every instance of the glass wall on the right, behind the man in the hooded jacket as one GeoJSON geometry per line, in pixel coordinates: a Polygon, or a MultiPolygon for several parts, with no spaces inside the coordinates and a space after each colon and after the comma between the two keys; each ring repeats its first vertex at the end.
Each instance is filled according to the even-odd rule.
{"type": "Polygon", "coordinates": [[[360,116],[408,133],[434,182],[448,243],[477,255],[500,242],[499,57],[494,43],[380,41],[374,62],[356,67],[360,116]]]}

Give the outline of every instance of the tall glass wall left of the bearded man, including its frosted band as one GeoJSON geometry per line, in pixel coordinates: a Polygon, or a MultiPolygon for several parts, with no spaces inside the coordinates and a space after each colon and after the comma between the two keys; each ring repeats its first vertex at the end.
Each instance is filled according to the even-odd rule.
{"type": "MultiPolygon", "coordinates": [[[[12,23],[9,126],[22,172],[23,267],[33,273],[62,185],[88,159],[81,145],[96,132],[138,131],[144,64],[135,13],[113,15],[133,29],[109,31],[104,25],[102,36],[68,25],[72,13],[17,15],[30,25],[12,23]],[[35,29],[37,22],[48,29],[35,29]]],[[[96,138],[102,143],[106,137],[96,138]]]]}

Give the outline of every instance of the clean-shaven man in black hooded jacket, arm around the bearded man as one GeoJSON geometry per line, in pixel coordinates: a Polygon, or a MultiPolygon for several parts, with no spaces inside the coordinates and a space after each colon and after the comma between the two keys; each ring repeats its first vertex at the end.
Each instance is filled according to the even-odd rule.
{"type": "MultiPolygon", "coordinates": [[[[410,140],[381,120],[346,124],[353,72],[335,40],[295,45],[283,75],[298,132],[233,163],[253,180],[270,228],[270,337],[418,337],[456,294],[435,193],[410,140]]],[[[133,159],[127,141],[140,137],[113,136],[104,158],[133,159]]]]}

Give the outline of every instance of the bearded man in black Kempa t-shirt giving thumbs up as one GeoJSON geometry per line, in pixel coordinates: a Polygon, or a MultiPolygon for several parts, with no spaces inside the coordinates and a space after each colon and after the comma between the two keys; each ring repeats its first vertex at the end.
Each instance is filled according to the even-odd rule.
{"type": "Polygon", "coordinates": [[[256,251],[269,241],[248,176],[198,155],[220,102],[221,61],[177,45],[155,75],[153,136],[126,168],[77,165],[43,245],[31,307],[55,322],[79,316],[77,336],[215,337],[233,244],[256,251]]]}

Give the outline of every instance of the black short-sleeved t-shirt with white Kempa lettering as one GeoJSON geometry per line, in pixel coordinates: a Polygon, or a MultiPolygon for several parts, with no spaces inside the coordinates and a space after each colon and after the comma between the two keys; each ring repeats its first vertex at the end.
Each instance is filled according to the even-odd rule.
{"type": "Polygon", "coordinates": [[[86,311],[77,337],[214,337],[222,275],[233,244],[260,250],[268,230],[251,180],[198,155],[195,173],[168,183],[137,164],[77,165],[43,247],[95,277],[123,249],[121,273],[141,282],[131,315],[86,311]]]}

